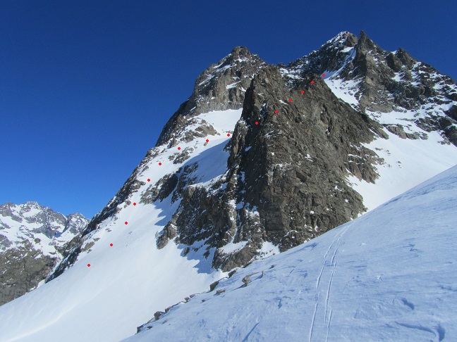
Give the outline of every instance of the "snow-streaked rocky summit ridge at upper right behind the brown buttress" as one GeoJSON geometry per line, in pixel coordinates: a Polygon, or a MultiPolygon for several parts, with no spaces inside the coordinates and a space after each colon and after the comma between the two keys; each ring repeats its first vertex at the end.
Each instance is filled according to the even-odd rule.
{"type": "Polygon", "coordinates": [[[444,143],[457,146],[456,82],[404,49],[385,51],[365,32],[360,38],[341,32],[317,51],[281,67],[290,87],[313,73],[325,74],[336,94],[352,97],[353,106],[371,118],[396,113],[396,120],[381,123],[403,139],[427,139],[426,132],[438,131],[444,143]]]}

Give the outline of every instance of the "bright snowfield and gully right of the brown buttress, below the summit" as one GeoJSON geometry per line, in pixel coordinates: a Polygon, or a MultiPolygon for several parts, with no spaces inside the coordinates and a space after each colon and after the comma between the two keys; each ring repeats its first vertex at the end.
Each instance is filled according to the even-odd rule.
{"type": "MultiPolygon", "coordinates": [[[[355,57],[353,48],[344,50],[346,60],[339,70],[326,70],[324,78],[327,86],[336,97],[351,104],[353,108],[360,107],[360,79],[345,80],[341,72],[355,57]]],[[[437,79],[437,75],[429,75],[437,79]]],[[[403,79],[401,79],[403,80],[403,79]]],[[[437,82],[436,87],[444,87],[442,82],[437,82]]],[[[456,102],[457,103],[457,102],[456,102]]],[[[449,110],[449,103],[429,103],[415,110],[393,110],[389,113],[372,112],[366,110],[370,118],[382,125],[401,125],[408,134],[419,134],[425,139],[401,139],[387,129],[384,132],[389,139],[377,137],[365,147],[376,152],[384,163],[377,165],[379,178],[375,183],[367,183],[357,177],[348,177],[349,184],[363,197],[363,203],[368,210],[389,201],[411,189],[413,186],[424,182],[434,175],[457,164],[457,148],[449,142],[445,143],[443,137],[437,132],[425,132],[415,124],[414,120],[426,118],[427,115],[444,115],[449,110]]]]}

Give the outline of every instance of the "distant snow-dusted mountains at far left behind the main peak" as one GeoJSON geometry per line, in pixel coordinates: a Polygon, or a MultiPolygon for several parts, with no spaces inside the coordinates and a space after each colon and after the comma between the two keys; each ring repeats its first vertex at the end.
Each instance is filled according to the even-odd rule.
{"type": "Polygon", "coordinates": [[[35,289],[61,261],[88,220],[36,202],[0,205],[0,305],[35,289]]]}

